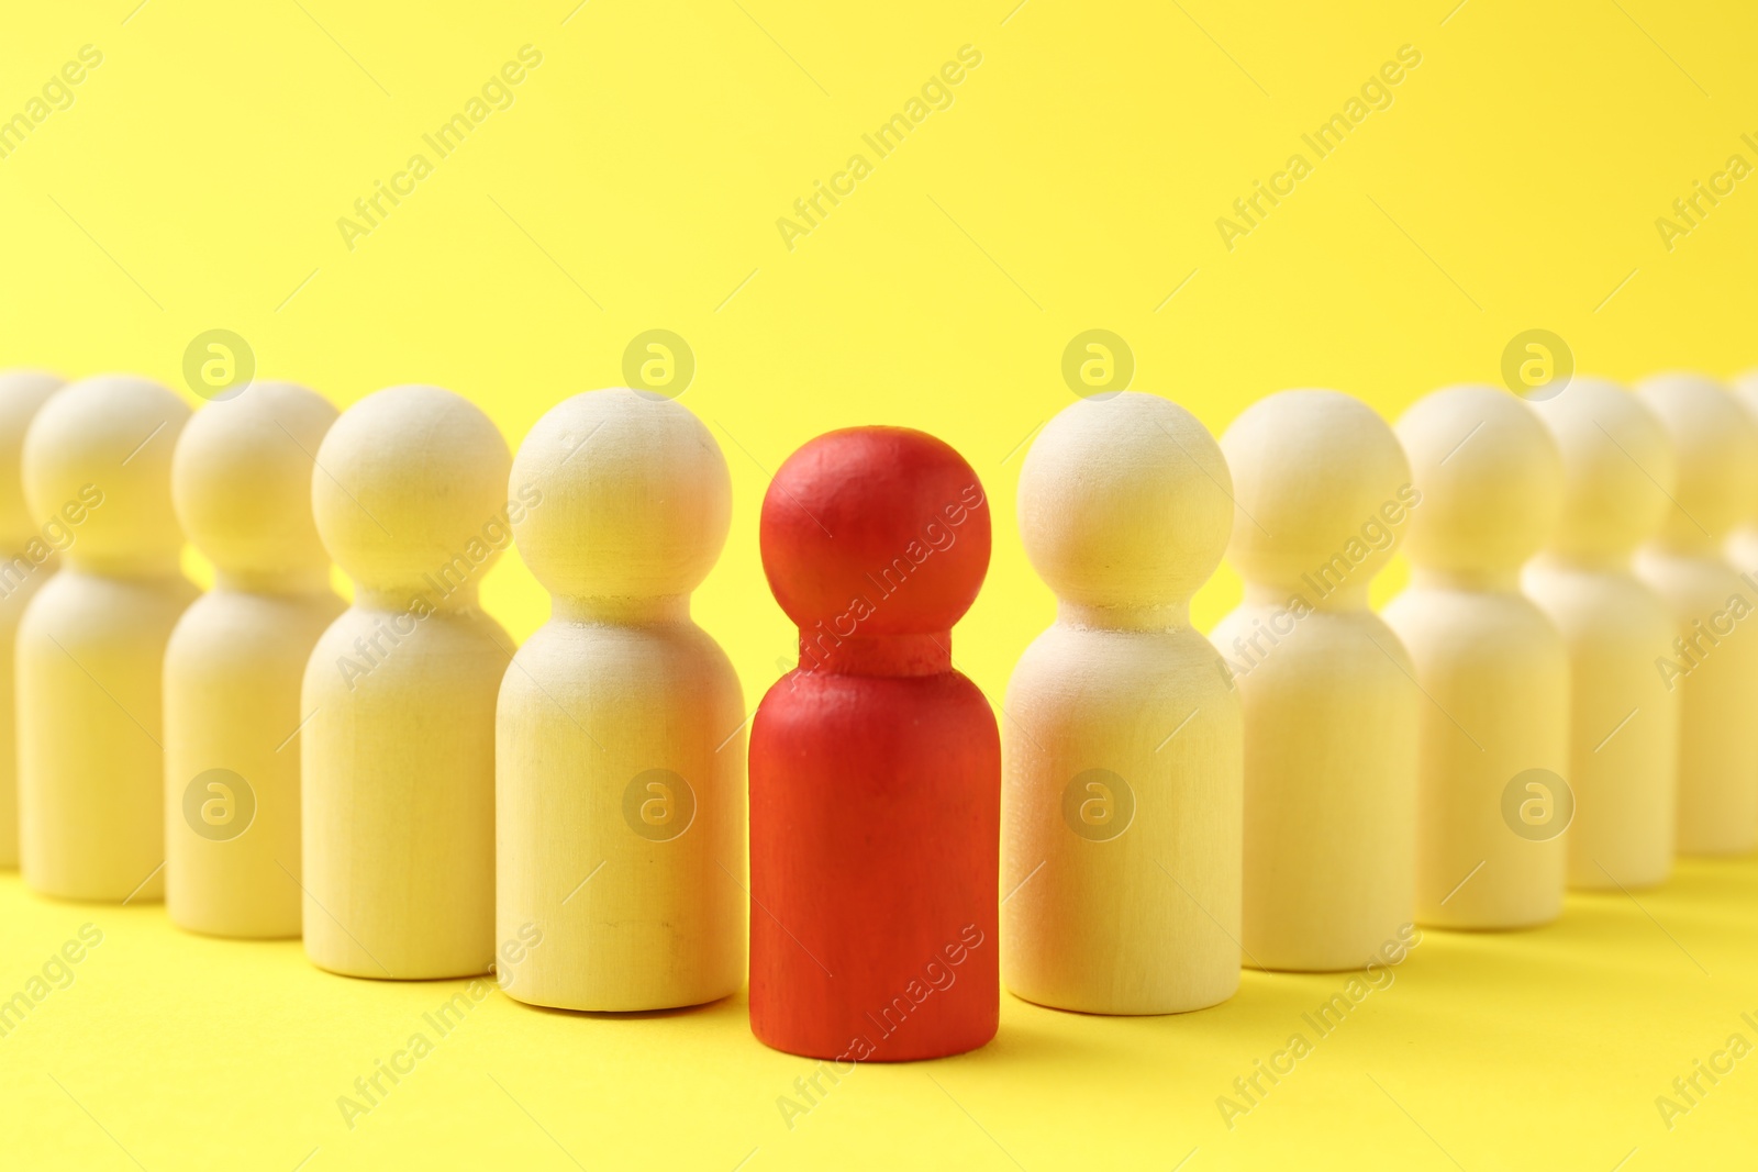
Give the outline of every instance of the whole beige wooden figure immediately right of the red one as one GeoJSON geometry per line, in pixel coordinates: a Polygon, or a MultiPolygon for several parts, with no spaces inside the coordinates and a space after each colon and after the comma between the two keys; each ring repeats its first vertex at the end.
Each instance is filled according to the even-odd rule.
{"type": "Polygon", "coordinates": [[[1234,524],[1188,411],[1125,392],[1053,418],[1020,536],[1057,620],[1002,733],[1002,979],[1039,1005],[1171,1014],[1239,986],[1239,698],[1190,626],[1234,524]]]}

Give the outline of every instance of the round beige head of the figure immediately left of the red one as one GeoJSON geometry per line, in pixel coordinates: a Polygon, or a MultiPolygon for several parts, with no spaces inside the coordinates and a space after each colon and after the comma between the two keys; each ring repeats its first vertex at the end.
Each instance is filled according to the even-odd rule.
{"type": "Polygon", "coordinates": [[[564,597],[689,594],[733,517],[721,446],[673,399],[624,387],[552,408],[519,445],[508,499],[526,566],[564,597]]]}

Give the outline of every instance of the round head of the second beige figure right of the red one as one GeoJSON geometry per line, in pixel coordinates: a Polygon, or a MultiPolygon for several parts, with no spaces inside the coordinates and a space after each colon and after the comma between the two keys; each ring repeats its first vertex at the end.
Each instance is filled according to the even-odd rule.
{"type": "Polygon", "coordinates": [[[1283,390],[1241,411],[1220,448],[1239,506],[1227,559],[1246,583],[1364,606],[1417,501],[1385,420],[1340,390],[1283,390]]]}

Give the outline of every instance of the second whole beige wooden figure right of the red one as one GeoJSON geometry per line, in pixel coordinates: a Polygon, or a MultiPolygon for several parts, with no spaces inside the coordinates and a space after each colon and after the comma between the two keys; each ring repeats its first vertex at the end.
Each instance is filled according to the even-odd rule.
{"type": "Polygon", "coordinates": [[[1245,705],[1245,961],[1364,968],[1415,901],[1420,696],[1368,585],[1419,494],[1385,420],[1334,390],[1262,399],[1220,446],[1245,601],[1210,640],[1245,705]]]}

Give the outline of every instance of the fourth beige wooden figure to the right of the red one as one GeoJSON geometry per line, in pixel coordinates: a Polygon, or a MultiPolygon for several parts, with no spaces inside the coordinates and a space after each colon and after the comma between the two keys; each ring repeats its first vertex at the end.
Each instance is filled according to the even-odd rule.
{"type": "Polygon", "coordinates": [[[1653,887],[1672,872],[1679,698],[1654,668],[1672,613],[1630,559],[1672,508],[1672,445],[1603,380],[1577,376],[1533,406],[1563,453],[1563,518],[1522,582],[1568,645],[1568,886],[1653,887]]]}

